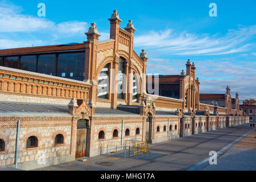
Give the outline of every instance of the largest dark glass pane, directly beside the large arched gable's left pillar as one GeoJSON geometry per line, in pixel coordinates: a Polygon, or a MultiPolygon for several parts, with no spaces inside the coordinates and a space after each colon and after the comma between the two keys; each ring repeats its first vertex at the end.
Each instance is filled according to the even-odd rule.
{"type": "Polygon", "coordinates": [[[83,80],[85,75],[85,52],[61,53],[58,56],[57,76],[83,80]]]}

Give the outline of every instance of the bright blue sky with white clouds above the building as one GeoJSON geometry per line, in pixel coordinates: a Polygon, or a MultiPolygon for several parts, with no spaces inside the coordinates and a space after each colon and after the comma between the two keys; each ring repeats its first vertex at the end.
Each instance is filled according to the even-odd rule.
{"type": "Polygon", "coordinates": [[[197,67],[201,93],[256,99],[256,1],[0,1],[0,48],[86,41],[95,22],[109,39],[110,18],[118,10],[121,27],[133,20],[134,49],[145,49],[147,73],[178,75],[187,59],[197,67]],[[46,17],[38,17],[45,3],[46,17]],[[217,17],[209,4],[217,4],[217,17]]]}

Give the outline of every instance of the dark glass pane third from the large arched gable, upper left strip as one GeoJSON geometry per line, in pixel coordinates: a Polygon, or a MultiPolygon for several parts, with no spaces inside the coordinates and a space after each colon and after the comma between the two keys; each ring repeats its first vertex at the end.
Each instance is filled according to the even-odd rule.
{"type": "Polygon", "coordinates": [[[21,56],[21,69],[35,72],[37,67],[37,56],[21,56]]]}

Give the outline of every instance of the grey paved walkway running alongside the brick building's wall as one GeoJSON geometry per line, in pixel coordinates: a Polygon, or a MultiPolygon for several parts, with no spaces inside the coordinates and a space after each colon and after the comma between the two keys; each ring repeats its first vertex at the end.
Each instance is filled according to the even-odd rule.
{"type": "MultiPolygon", "coordinates": [[[[207,158],[210,151],[220,150],[251,130],[252,128],[247,123],[238,127],[227,127],[155,144],[150,147],[151,154],[147,154],[151,155],[151,158],[119,158],[114,155],[99,155],[88,158],[87,162],[75,160],[37,170],[186,170],[207,158]]],[[[218,162],[221,163],[221,159],[218,162]]]]}

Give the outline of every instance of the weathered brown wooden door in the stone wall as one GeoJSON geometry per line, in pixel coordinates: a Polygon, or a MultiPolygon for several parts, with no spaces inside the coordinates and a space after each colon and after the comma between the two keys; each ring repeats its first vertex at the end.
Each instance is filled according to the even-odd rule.
{"type": "Polygon", "coordinates": [[[85,157],[86,154],[86,131],[87,129],[77,130],[77,150],[75,151],[75,158],[85,157]]]}

